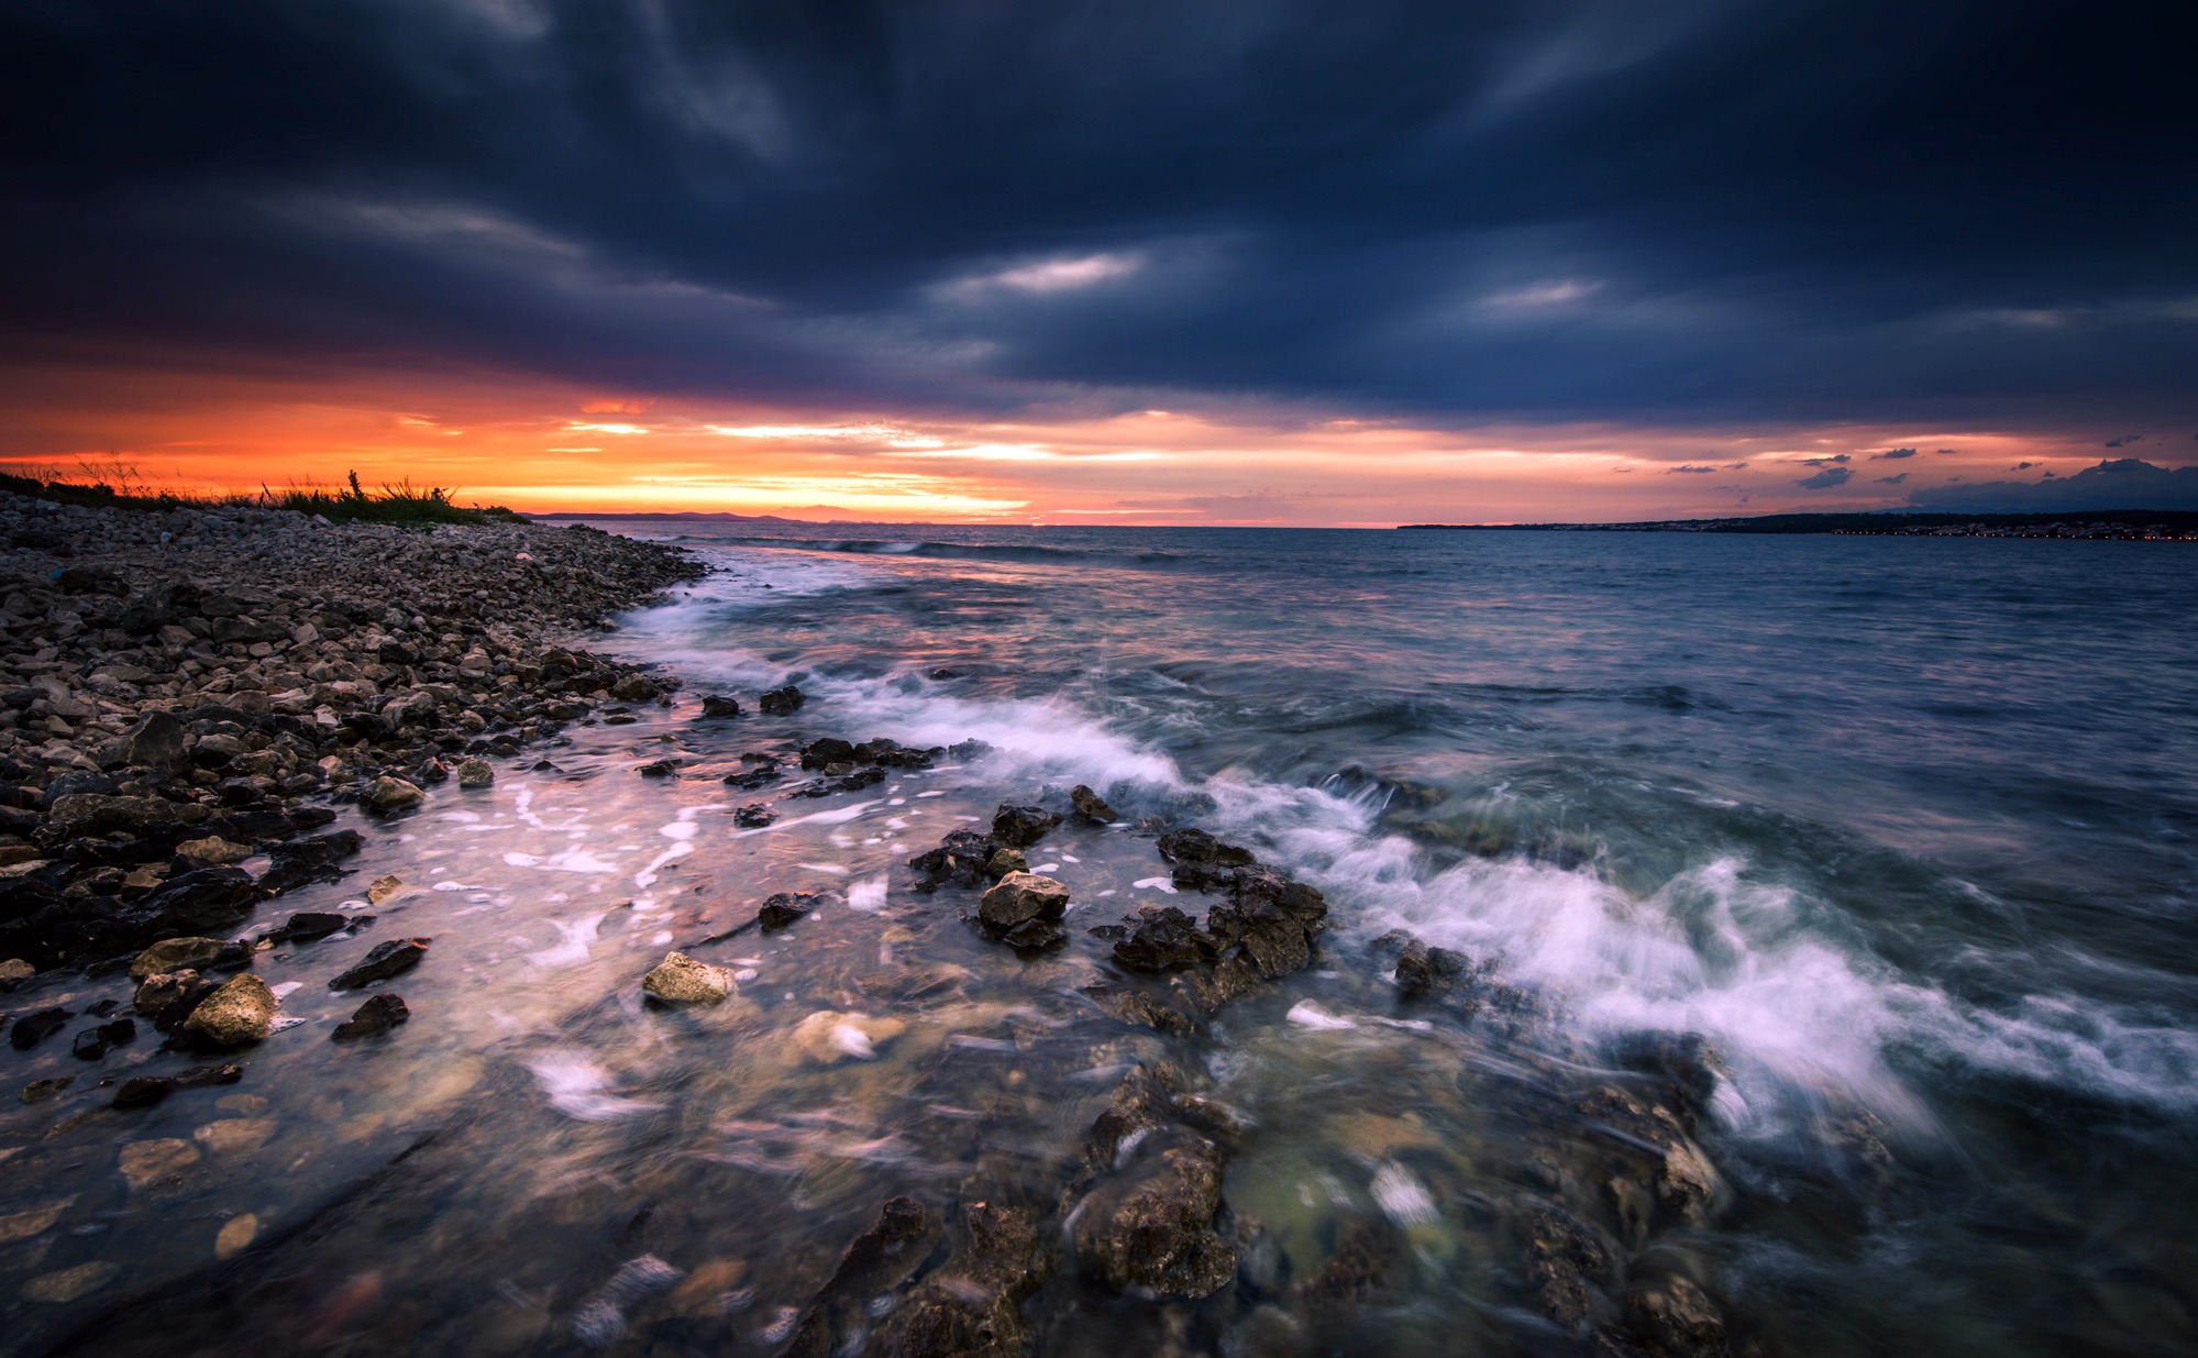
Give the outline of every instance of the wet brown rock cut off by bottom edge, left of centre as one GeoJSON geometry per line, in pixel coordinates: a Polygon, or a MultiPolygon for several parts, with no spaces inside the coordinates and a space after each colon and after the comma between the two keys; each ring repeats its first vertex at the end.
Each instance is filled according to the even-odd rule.
{"type": "Polygon", "coordinates": [[[1020,1358],[1022,1303],[1051,1272],[1029,1209],[972,1202],[961,1244],[877,1332],[884,1358],[1020,1358]]]}

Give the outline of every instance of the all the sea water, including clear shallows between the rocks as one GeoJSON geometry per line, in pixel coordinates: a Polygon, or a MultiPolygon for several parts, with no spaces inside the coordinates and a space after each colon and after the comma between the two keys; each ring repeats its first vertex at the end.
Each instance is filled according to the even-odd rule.
{"type": "MultiPolygon", "coordinates": [[[[2198,1345],[2180,545],[921,532],[686,538],[721,574],[609,646],[688,694],[793,677],[811,703],[576,727],[554,767],[369,826],[352,879],[266,923],[380,872],[415,890],[262,965],[306,1022],[244,1083],[97,1112],[92,1081],[187,1061],[149,1033],[97,1068],[66,1037],[7,1053],[77,1083],[0,1114],[0,1233],[64,1204],[0,1242],[0,1349],[769,1351],[881,1198],[1051,1209],[1128,1064],[1172,1061],[1246,1123],[1224,1191],[1259,1246],[1198,1305],[1055,1279],[1042,1351],[1259,1351],[1262,1303],[1310,1351],[1565,1351],[1521,1222],[1600,1202],[1627,1151],[1591,1103],[1646,1097],[1618,1070],[1642,1033],[1719,1053],[1697,1138],[1723,1189],[1622,1244],[1719,1296],[1736,1347],[2198,1345]],[[824,734],[996,752],[736,831],[771,795],[719,782],[739,754],[824,734]],[[633,771],[666,754],[677,778],[633,771]],[[1031,850],[1077,901],[1051,958],[910,892],[906,859],[963,817],[1073,782],[1321,886],[1317,969],[1196,1037],[1112,1020],[1077,925],[1200,908],[1125,826],[1031,850]],[[699,949],[736,1002],[640,1006],[666,947],[778,890],[835,899],[699,949]],[[1501,1002],[1400,1006],[1394,927],[1490,965],[1501,1002]],[[328,1042],[356,995],[325,978],[400,932],[435,938],[391,987],[413,1022],[328,1042]],[[818,1011],[903,1031],[804,1055],[818,1011]],[[163,1138],[196,1158],[132,1189],[125,1145],[163,1138]],[[1317,1294],[1350,1239],[1380,1242],[1378,1283],[1317,1294]],[[613,1283],[640,1257],[699,1281],[613,1283]],[[55,1277],[92,1285],[22,1296],[55,1277]]],[[[11,1009],[68,993],[127,995],[11,1009]]]]}

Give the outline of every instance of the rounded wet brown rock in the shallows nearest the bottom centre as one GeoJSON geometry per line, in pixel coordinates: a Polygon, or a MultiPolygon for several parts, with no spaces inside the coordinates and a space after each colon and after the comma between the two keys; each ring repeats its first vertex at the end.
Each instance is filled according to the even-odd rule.
{"type": "Polygon", "coordinates": [[[1213,1231],[1220,1204],[1222,1158],[1211,1145],[1143,1156],[1077,1204],[1077,1264],[1117,1292],[1211,1296],[1235,1277],[1235,1248],[1213,1231]]]}

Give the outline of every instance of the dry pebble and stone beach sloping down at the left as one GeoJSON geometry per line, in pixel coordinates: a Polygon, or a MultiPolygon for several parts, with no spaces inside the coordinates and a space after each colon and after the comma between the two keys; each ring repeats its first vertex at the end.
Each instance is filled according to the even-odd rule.
{"type": "Polygon", "coordinates": [[[314,835],[332,804],[402,811],[574,721],[664,701],[670,681],[576,637],[703,574],[580,525],[20,494],[0,494],[0,543],[4,987],[231,930],[356,853],[356,833],[314,835]]]}

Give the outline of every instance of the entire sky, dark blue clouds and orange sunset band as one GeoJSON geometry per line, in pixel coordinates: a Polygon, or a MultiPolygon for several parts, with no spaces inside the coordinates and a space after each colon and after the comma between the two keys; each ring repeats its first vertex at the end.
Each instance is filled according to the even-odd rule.
{"type": "Polygon", "coordinates": [[[0,464],[870,521],[2198,508],[2169,13],[11,0],[0,464]]]}

